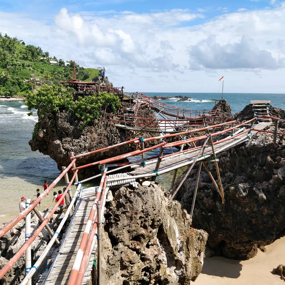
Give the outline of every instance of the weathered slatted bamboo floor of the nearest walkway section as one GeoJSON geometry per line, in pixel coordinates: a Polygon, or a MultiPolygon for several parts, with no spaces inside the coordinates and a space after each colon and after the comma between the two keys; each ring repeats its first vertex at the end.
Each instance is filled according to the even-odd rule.
{"type": "MultiPolygon", "coordinates": [[[[82,192],[80,193],[80,198],[77,201],[75,211],[72,215],[70,224],[68,225],[66,232],[64,233],[61,239],[58,250],[52,256],[52,265],[50,266],[49,270],[45,271],[42,274],[36,285],[42,285],[42,284],[63,285],[68,283],[68,277],[70,275],[77,250],[79,248],[82,235],[84,233],[84,229],[89,217],[89,213],[91,211],[91,207],[95,200],[97,189],[98,187],[90,187],[82,189],[82,192]]],[[[106,195],[104,197],[102,205],[102,213],[101,213],[102,223],[105,221],[103,217],[105,200],[106,200],[106,195]]],[[[96,214],[94,216],[93,222],[95,218],[96,214]]],[[[91,253],[89,262],[87,264],[82,284],[88,284],[91,278],[93,258],[95,256],[95,251],[97,249],[96,235],[94,236],[94,239],[96,243],[91,253]]]]}

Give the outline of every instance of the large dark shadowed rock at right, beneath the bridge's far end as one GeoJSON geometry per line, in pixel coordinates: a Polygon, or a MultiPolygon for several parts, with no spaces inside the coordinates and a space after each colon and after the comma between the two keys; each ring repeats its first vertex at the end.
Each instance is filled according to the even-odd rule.
{"type": "MultiPolygon", "coordinates": [[[[284,126],[279,125],[284,133],[284,126]]],[[[269,129],[273,131],[274,124],[269,129]]],[[[274,146],[272,134],[258,133],[250,141],[217,155],[225,205],[202,168],[192,219],[194,227],[209,234],[208,245],[214,255],[251,258],[258,246],[272,243],[285,228],[284,143],[284,136],[278,135],[274,146]]],[[[214,165],[209,164],[209,168],[217,181],[214,165]]],[[[178,195],[188,211],[195,181],[193,171],[178,195]]]]}

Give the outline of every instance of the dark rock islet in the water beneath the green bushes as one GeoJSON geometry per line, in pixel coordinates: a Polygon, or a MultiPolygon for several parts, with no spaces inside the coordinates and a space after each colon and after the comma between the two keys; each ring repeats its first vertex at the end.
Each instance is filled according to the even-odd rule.
{"type": "MultiPolygon", "coordinates": [[[[122,103],[119,114],[123,114],[125,108],[130,107],[131,103],[122,103]]],[[[137,113],[139,117],[154,118],[154,114],[147,107],[139,108],[137,113]]],[[[111,119],[118,119],[110,116],[111,119]]],[[[58,164],[58,169],[62,166],[68,166],[71,162],[69,153],[81,154],[106,146],[111,146],[127,140],[132,131],[126,131],[115,127],[115,123],[102,118],[94,121],[93,126],[82,128],[83,122],[77,120],[75,116],[71,116],[68,112],[57,112],[56,116],[50,118],[39,118],[38,131],[34,139],[29,141],[33,151],[40,151],[43,154],[49,155],[58,164]]],[[[146,136],[145,133],[140,133],[140,136],[146,136]]],[[[155,135],[155,134],[152,134],[155,135]]],[[[152,143],[146,143],[146,147],[152,143]]],[[[84,165],[87,163],[102,160],[104,158],[117,156],[130,152],[139,148],[139,144],[128,144],[119,148],[110,149],[103,153],[97,153],[90,156],[79,158],[76,165],[84,165]]],[[[93,176],[98,172],[98,165],[81,169],[78,176],[82,177],[93,176]]]]}

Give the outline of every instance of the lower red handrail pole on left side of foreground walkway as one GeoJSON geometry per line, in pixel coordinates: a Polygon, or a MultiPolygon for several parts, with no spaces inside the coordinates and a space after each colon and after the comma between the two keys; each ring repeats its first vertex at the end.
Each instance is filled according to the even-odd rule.
{"type": "Polygon", "coordinates": [[[64,199],[64,196],[67,194],[68,190],[70,189],[70,186],[72,182],[75,179],[75,176],[77,174],[78,170],[74,172],[74,175],[68,184],[66,190],[63,192],[63,195],[60,197],[60,199],[57,201],[56,205],[52,208],[52,210],[48,213],[47,217],[42,221],[42,223],[38,226],[38,228],[32,233],[32,235],[29,237],[29,239],[22,245],[22,247],[15,253],[15,255],[2,267],[0,270],[0,279],[8,272],[9,269],[17,262],[17,260],[25,253],[27,248],[33,243],[33,241],[36,239],[36,237],[39,235],[39,233],[42,231],[44,226],[48,223],[58,206],[60,205],[61,201],[64,199]]]}

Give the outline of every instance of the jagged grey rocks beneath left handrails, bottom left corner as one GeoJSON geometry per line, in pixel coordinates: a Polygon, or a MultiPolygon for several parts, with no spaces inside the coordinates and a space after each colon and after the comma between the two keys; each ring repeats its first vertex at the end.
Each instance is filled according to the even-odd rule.
{"type": "MultiPolygon", "coordinates": [[[[48,215],[49,209],[40,212],[42,217],[48,215]]],[[[51,229],[55,230],[57,224],[60,223],[62,218],[62,213],[54,214],[50,219],[48,225],[51,229]]],[[[31,217],[31,231],[35,231],[38,228],[39,219],[36,214],[32,213],[31,217]]],[[[61,235],[60,235],[61,236],[61,235]]],[[[32,266],[36,260],[40,257],[47,243],[50,241],[50,235],[48,231],[44,228],[36,237],[35,241],[31,245],[31,257],[32,266]]],[[[11,257],[19,251],[19,249],[25,243],[25,220],[21,220],[15,227],[8,231],[3,237],[0,238],[0,268],[5,265],[11,257]]],[[[38,279],[39,274],[41,274],[46,268],[46,261],[51,258],[56,247],[52,247],[44,262],[39,266],[37,272],[32,278],[32,284],[35,284],[38,279]]],[[[20,284],[25,276],[25,253],[17,260],[17,262],[12,266],[12,268],[3,276],[0,280],[1,285],[14,285],[20,284]]]]}

